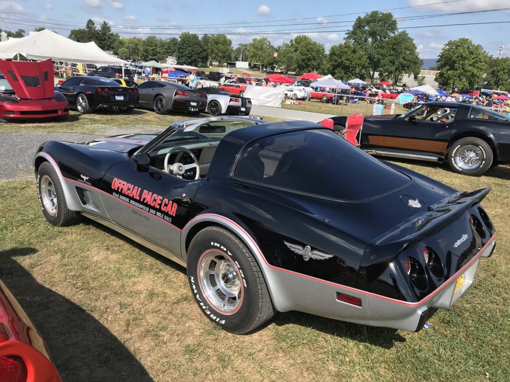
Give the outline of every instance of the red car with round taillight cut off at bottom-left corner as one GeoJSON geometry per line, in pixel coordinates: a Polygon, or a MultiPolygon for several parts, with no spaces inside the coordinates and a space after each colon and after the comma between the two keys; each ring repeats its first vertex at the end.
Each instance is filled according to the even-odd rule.
{"type": "Polygon", "coordinates": [[[0,380],[61,382],[34,324],[0,281],[0,380]]]}

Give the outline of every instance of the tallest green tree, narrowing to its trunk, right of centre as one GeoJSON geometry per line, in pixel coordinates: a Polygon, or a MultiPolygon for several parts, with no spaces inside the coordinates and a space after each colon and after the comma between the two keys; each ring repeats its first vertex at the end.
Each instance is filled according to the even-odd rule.
{"type": "Polygon", "coordinates": [[[352,30],[346,33],[345,40],[365,52],[371,82],[374,80],[375,72],[384,66],[389,52],[388,40],[397,31],[397,21],[391,12],[372,11],[356,18],[352,30]]]}

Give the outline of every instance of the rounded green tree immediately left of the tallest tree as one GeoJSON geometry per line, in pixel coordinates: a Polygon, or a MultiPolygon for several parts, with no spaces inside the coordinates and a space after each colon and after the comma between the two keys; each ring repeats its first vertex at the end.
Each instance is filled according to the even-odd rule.
{"type": "Polygon", "coordinates": [[[349,41],[331,46],[325,72],[331,73],[338,80],[349,81],[354,78],[370,77],[367,55],[349,41]]]}

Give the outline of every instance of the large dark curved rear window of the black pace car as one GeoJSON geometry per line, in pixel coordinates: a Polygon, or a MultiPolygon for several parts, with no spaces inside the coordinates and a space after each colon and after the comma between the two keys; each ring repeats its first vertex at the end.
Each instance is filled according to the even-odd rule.
{"type": "Polygon", "coordinates": [[[328,130],[284,133],[254,141],[234,177],[320,197],[361,201],[400,189],[411,179],[328,130]]]}

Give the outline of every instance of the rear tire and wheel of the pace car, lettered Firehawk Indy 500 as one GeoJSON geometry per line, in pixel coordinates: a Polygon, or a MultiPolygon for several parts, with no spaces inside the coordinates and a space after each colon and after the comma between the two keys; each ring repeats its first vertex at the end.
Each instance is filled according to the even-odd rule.
{"type": "Polygon", "coordinates": [[[198,307],[227,332],[245,334],[275,313],[262,272],[246,246],[220,227],[191,241],[188,281],[198,307]]]}

